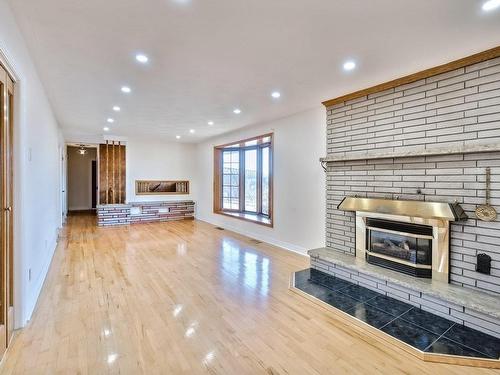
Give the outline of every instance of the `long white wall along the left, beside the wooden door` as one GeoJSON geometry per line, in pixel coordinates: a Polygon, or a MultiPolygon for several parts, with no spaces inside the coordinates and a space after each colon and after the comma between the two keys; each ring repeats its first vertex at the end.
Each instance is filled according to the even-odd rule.
{"type": "Polygon", "coordinates": [[[31,317],[61,222],[62,137],[13,14],[0,0],[0,51],[18,80],[14,131],[15,326],[31,317]],[[31,279],[29,278],[31,270],[31,279]]]}

